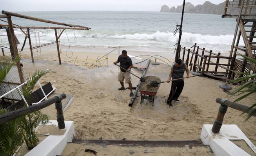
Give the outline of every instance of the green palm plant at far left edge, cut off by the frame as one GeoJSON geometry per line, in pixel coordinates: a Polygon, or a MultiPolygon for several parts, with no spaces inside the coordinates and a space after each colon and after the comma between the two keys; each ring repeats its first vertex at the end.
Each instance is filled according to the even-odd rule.
{"type": "MultiPolygon", "coordinates": [[[[12,62],[0,63],[0,85],[3,83],[6,75],[11,67],[19,61],[18,57],[12,62]]],[[[0,107],[0,115],[8,113],[7,109],[0,107]]],[[[24,143],[23,129],[20,127],[20,118],[16,118],[4,124],[0,124],[0,155],[1,156],[16,156],[19,147],[24,143]]]]}

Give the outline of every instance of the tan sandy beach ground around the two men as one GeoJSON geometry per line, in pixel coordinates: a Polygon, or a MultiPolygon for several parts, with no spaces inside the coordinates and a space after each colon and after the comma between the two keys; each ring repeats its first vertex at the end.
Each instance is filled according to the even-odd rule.
{"type": "MultiPolygon", "coordinates": [[[[110,49],[106,49],[108,50],[110,49]]],[[[166,105],[171,83],[161,84],[155,96],[154,106],[147,100],[140,104],[138,97],[131,108],[128,107],[131,100],[129,91],[118,90],[119,69],[111,65],[116,60],[117,54],[109,55],[109,67],[102,63],[100,68],[95,68],[93,61],[76,62],[74,65],[76,59],[74,56],[85,60],[87,56],[88,59],[94,59],[103,55],[103,53],[78,50],[73,52],[72,58],[68,58],[62,52],[62,65],[58,65],[57,52],[35,57],[34,63],[29,59],[29,52],[22,52],[21,62],[26,74],[36,69],[48,68],[54,73],[45,75],[40,82],[45,84],[57,81],[54,83],[57,93],[74,96],[64,117],[65,120],[74,121],[76,139],[198,140],[203,124],[212,124],[217,116],[220,104],[216,103],[215,99],[218,97],[231,101],[236,99],[227,96],[227,93],[219,88],[223,82],[206,77],[193,77],[185,79],[180,102],[172,102],[172,108],[166,105]]],[[[146,75],[155,75],[164,81],[169,75],[170,67],[165,64],[150,65],[146,75]]],[[[132,69],[132,72],[141,75],[136,69],[132,69]]],[[[138,79],[132,76],[132,82],[136,86],[138,79]]],[[[127,86],[126,84],[125,87],[127,86]]],[[[238,88],[238,86],[232,87],[238,88]]],[[[255,101],[256,94],[252,94],[239,103],[250,106],[255,101]]],[[[42,109],[42,112],[50,115],[51,120],[56,120],[56,110],[53,105],[42,109]]],[[[229,108],[223,124],[236,124],[252,143],[256,144],[255,117],[244,122],[245,117],[246,115],[241,115],[240,111],[229,108]]]]}

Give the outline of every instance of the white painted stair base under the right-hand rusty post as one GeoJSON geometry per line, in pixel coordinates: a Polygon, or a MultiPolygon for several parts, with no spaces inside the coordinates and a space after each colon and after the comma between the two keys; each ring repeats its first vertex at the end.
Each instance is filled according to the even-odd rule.
{"type": "Polygon", "coordinates": [[[250,156],[250,154],[243,151],[230,140],[244,140],[251,147],[252,151],[256,153],[256,147],[238,126],[222,125],[218,134],[214,134],[211,129],[212,125],[203,125],[200,139],[203,144],[210,145],[216,156],[250,156]]]}

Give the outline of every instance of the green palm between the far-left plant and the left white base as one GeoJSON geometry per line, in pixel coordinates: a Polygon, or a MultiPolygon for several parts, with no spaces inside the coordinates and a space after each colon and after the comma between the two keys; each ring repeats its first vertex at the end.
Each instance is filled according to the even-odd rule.
{"type": "MultiPolygon", "coordinates": [[[[36,82],[49,71],[34,71],[27,77],[27,85],[21,88],[20,93],[27,99],[29,106],[31,105],[31,95],[34,90],[36,82]]],[[[49,122],[49,116],[42,114],[40,111],[35,111],[25,115],[21,120],[21,127],[24,129],[24,139],[28,149],[33,149],[37,143],[38,138],[36,136],[36,127],[39,125],[45,125],[49,122]]]]}

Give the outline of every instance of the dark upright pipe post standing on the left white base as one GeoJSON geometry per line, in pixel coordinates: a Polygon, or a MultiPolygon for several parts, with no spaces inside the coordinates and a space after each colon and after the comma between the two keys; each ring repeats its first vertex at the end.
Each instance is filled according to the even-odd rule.
{"type": "Polygon", "coordinates": [[[59,98],[58,102],[55,103],[55,109],[57,111],[57,122],[58,122],[58,128],[59,129],[64,129],[65,128],[65,119],[64,119],[64,115],[62,112],[62,96],[61,95],[57,95],[57,97],[59,98]]]}

